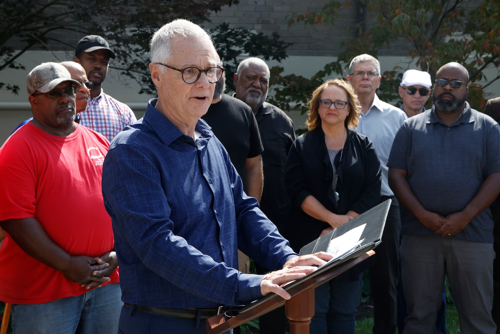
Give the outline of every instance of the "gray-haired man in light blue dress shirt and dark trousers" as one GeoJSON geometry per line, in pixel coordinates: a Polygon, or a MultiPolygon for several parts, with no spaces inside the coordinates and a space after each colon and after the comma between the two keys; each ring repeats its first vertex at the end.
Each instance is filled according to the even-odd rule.
{"type": "Polygon", "coordinates": [[[399,108],[380,101],[375,91],[380,87],[380,63],[370,55],[359,55],[349,65],[350,82],[361,104],[356,132],[367,136],[375,146],[382,167],[380,200],[392,200],[382,242],[375,252],[375,265],[370,269],[371,296],[374,301],[373,334],[393,334],[396,329],[399,260],[399,205],[387,183],[387,160],[397,130],[406,119],[399,108]]]}

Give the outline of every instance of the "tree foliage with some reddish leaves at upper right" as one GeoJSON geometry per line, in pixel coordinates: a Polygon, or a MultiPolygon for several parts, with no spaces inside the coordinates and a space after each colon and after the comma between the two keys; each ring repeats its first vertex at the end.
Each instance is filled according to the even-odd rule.
{"type": "MultiPolygon", "coordinates": [[[[401,47],[405,42],[408,63],[414,62],[422,71],[435,72],[443,64],[458,62],[469,72],[468,101],[482,110],[483,89],[500,78],[500,0],[358,0],[330,1],[317,12],[296,14],[290,24],[335,25],[343,11],[356,10],[363,19],[357,25],[343,27],[354,30],[356,37],[343,41],[335,62],[326,64],[312,78],[281,76],[273,71],[276,85],[274,103],[289,109],[303,104],[304,97],[323,82],[326,76],[343,73],[350,60],[363,53],[377,56],[380,50],[401,47]],[[485,69],[496,75],[486,77],[485,69]]],[[[399,49],[398,49],[399,50],[399,49]]],[[[382,74],[377,94],[383,100],[398,99],[397,86],[405,69],[395,66],[382,74]]]]}

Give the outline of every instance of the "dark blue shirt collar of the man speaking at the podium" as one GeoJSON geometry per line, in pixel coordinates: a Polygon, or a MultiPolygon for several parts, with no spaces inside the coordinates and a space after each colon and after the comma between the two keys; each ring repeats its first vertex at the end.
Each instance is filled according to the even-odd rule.
{"type": "MultiPolygon", "coordinates": [[[[153,131],[158,135],[163,144],[170,145],[175,139],[179,137],[188,137],[177,129],[172,122],[161,114],[156,108],[158,98],[149,100],[147,103],[146,112],[144,113],[144,121],[149,124],[153,131]]],[[[194,129],[201,134],[201,136],[211,137],[212,132],[205,121],[199,119],[194,129]]]]}

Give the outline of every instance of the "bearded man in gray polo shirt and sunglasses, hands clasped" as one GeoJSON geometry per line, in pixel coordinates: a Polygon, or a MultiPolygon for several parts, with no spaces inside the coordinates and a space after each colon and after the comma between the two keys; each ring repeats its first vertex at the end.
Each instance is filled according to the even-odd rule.
{"type": "Polygon", "coordinates": [[[401,215],[404,334],[435,332],[447,274],[461,333],[494,333],[493,220],[500,190],[500,127],[470,108],[467,70],[436,73],[432,109],[406,120],[389,155],[401,215]]]}

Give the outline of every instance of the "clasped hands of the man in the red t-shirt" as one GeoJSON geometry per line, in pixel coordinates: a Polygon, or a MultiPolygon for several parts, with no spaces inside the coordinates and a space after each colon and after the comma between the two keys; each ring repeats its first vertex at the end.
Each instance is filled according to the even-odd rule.
{"type": "Polygon", "coordinates": [[[100,287],[101,283],[108,282],[109,276],[118,266],[116,253],[110,251],[100,257],[86,255],[70,256],[66,265],[60,270],[67,279],[85,286],[86,289],[100,287]]]}

